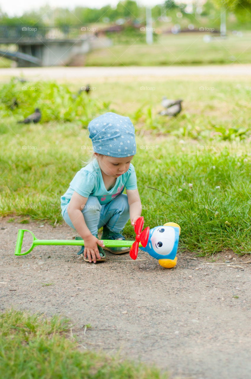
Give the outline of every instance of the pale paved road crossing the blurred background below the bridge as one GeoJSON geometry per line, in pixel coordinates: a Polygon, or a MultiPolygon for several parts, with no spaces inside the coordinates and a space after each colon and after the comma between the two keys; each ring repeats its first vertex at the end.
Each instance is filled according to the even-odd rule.
{"type": "Polygon", "coordinates": [[[218,66],[158,66],[158,67],[15,67],[0,69],[0,79],[22,75],[29,79],[106,78],[106,77],[175,77],[175,76],[220,76],[251,77],[251,64],[218,66]]]}

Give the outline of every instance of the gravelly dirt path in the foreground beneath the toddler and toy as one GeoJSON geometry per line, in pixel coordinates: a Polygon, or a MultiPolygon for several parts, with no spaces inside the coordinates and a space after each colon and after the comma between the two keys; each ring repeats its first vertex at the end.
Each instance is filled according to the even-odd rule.
{"type": "Polygon", "coordinates": [[[77,259],[78,247],[71,246],[37,246],[16,257],[19,228],[41,239],[75,233],[67,226],[7,221],[0,225],[2,310],[12,305],[68,316],[82,345],[112,354],[120,349],[167,368],[171,378],[250,379],[251,270],[242,263],[250,258],[234,256],[231,267],[179,254],[176,268],[168,270],[144,252],[136,261],[108,253],[108,262],[96,265],[77,259]],[[86,335],[84,324],[92,325],[86,335]]]}

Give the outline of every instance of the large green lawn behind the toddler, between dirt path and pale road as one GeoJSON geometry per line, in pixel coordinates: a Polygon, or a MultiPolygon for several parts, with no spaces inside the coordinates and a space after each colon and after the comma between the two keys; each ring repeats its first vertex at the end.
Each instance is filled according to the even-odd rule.
{"type": "MultiPolygon", "coordinates": [[[[4,87],[9,99],[19,94],[18,86],[11,91],[4,87]]],[[[97,89],[74,102],[64,85],[41,86],[47,102],[41,101],[44,94],[37,90],[34,97],[28,97],[26,91],[24,98],[21,93],[16,110],[8,110],[9,103],[0,104],[2,215],[47,220],[52,225],[62,221],[60,196],[91,154],[87,124],[107,111],[111,102],[110,109],[131,117],[136,127],[133,163],[145,225],[177,222],[181,226],[179,247],[196,254],[228,249],[239,254],[249,252],[250,80],[173,78],[92,83],[97,89]],[[154,90],[142,90],[142,86],[154,90]],[[62,105],[56,110],[59,116],[52,116],[50,121],[55,112],[55,91],[57,104],[62,105]],[[184,110],[178,117],[158,115],[163,95],[184,99],[184,110]],[[29,114],[37,103],[43,114],[41,123],[17,124],[16,120],[29,114]],[[65,120],[69,106],[73,116],[69,119],[67,113],[65,120]]],[[[125,233],[134,236],[129,223],[125,233]]]]}

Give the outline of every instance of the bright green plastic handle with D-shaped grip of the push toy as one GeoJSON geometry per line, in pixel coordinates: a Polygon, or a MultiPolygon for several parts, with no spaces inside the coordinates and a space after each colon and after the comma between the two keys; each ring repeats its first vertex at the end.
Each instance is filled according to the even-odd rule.
{"type": "MultiPolygon", "coordinates": [[[[123,241],[123,240],[101,240],[103,241],[103,244],[107,247],[131,247],[134,241],[123,241]]],[[[27,229],[19,229],[18,235],[17,235],[17,244],[16,244],[16,250],[15,255],[26,255],[33,250],[35,246],[41,246],[41,245],[69,245],[69,246],[83,246],[84,241],[83,240],[38,240],[34,234],[27,229]],[[23,234],[24,232],[29,232],[33,236],[33,243],[29,250],[27,250],[24,253],[21,253],[22,249],[22,243],[23,243],[23,234]]],[[[139,245],[142,247],[142,245],[139,245]]]]}

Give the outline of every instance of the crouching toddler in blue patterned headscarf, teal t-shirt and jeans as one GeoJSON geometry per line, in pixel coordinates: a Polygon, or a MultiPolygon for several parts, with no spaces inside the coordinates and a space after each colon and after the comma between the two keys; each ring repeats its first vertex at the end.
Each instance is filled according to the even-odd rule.
{"type": "MultiPolygon", "coordinates": [[[[126,222],[134,225],[141,215],[137,179],[131,164],[136,154],[134,126],[129,117],[105,113],[88,125],[94,160],[78,171],[70,187],[61,196],[62,216],[84,240],[78,252],[86,262],[105,261],[106,255],[98,240],[125,240],[122,235],[126,222]],[[123,194],[126,189],[126,194],[123,194]]],[[[114,254],[129,251],[128,247],[104,249],[114,254]]]]}

